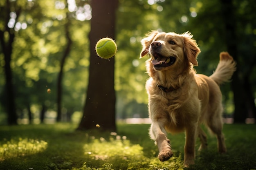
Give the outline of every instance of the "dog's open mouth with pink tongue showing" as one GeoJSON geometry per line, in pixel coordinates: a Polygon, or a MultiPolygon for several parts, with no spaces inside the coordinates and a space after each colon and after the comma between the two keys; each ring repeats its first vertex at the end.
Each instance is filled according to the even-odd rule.
{"type": "Polygon", "coordinates": [[[173,56],[170,57],[164,57],[159,53],[155,53],[153,55],[154,59],[152,60],[152,64],[154,67],[167,67],[173,65],[176,58],[173,56]]]}

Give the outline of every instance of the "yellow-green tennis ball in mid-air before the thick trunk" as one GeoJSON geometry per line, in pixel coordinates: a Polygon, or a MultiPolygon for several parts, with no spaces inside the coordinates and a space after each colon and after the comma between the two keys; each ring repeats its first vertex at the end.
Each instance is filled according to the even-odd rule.
{"type": "Polygon", "coordinates": [[[111,58],[117,52],[117,44],[111,38],[100,39],[95,46],[97,55],[101,58],[111,58]]]}

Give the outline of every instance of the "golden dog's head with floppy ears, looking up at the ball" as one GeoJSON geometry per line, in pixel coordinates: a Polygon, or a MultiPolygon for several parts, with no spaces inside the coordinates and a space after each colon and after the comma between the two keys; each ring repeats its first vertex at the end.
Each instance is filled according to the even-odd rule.
{"type": "Polygon", "coordinates": [[[192,37],[189,32],[177,34],[152,31],[141,40],[143,49],[140,58],[149,54],[156,71],[168,70],[184,62],[198,66],[196,58],[200,49],[192,37]]]}

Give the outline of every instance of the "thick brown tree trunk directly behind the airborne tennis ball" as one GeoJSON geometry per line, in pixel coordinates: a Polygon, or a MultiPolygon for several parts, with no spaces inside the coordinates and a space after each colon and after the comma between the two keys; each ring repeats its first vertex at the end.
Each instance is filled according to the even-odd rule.
{"type": "Polygon", "coordinates": [[[101,38],[115,40],[115,13],[117,0],[92,0],[90,39],[89,84],[78,129],[116,131],[114,58],[101,59],[95,52],[95,44],[101,38]]]}

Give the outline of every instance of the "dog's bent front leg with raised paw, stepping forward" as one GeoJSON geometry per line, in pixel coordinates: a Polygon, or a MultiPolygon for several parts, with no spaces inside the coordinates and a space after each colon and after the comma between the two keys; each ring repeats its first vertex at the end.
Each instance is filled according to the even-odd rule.
{"type": "Polygon", "coordinates": [[[155,139],[158,146],[159,154],[158,158],[160,161],[166,161],[173,156],[171,151],[170,140],[166,137],[166,131],[164,127],[159,125],[159,122],[153,122],[150,128],[150,136],[155,139]]]}

